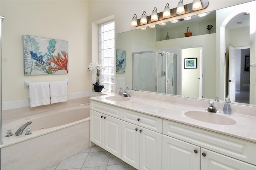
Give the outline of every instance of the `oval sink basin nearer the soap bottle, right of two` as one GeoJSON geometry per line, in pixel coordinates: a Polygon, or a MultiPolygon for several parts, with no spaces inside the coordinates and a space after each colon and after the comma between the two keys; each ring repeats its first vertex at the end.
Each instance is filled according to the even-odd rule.
{"type": "Polygon", "coordinates": [[[218,115],[218,113],[213,112],[203,112],[203,111],[188,111],[185,115],[191,119],[196,119],[198,121],[212,123],[216,125],[235,125],[236,121],[229,117],[218,115]]]}

